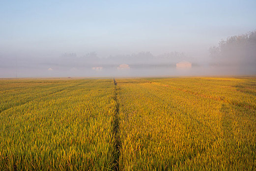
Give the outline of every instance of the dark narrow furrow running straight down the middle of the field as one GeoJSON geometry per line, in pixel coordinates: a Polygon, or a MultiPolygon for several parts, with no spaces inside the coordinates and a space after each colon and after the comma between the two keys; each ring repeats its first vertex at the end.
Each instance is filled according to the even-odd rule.
{"type": "Polygon", "coordinates": [[[119,156],[120,156],[120,138],[119,138],[119,103],[117,100],[118,87],[117,82],[114,80],[114,101],[115,101],[115,111],[114,111],[114,138],[115,138],[115,171],[119,171],[119,156]]]}

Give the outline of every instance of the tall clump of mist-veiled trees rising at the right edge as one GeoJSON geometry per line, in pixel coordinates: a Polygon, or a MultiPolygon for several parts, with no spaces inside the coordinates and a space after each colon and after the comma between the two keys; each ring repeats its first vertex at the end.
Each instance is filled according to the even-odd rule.
{"type": "Polygon", "coordinates": [[[216,64],[256,64],[256,31],[221,40],[209,53],[216,64]]]}

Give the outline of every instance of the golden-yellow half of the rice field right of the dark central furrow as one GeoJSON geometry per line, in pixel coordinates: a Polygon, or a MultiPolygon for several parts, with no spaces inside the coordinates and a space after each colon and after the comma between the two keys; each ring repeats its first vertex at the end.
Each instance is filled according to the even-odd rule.
{"type": "Polygon", "coordinates": [[[256,80],[118,79],[121,170],[256,168],[256,80]]]}

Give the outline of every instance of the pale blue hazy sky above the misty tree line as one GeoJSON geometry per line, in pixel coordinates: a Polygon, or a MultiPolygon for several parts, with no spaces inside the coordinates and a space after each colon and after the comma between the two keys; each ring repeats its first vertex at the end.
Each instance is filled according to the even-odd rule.
{"type": "Polygon", "coordinates": [[[256,0],[0,0],[0,55],[204,53],[256,29],[256,0]]]}

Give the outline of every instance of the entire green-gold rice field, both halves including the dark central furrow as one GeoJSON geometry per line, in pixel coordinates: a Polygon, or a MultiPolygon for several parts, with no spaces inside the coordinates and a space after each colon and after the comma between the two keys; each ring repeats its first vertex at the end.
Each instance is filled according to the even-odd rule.
{"type": "Polygon", "coordinates": [[[0,170],[200,169],[256,169],[256,77],[0,79],[0,170]]]}

